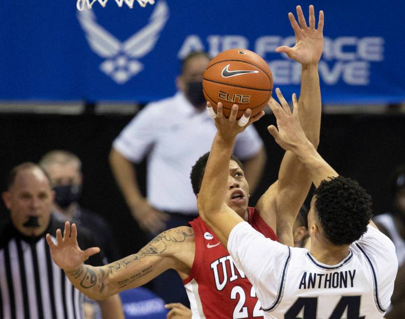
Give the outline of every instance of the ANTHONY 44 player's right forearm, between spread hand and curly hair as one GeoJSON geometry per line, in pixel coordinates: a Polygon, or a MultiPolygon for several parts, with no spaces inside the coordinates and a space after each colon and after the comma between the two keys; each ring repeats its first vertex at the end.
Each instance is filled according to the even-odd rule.
{"type": "Polygon", "coordinates": [[[297,145],[293,152],[308,169],[315,187],[318,187],[323,180],[339,176],[339,174],[322,159],[316,151],[315,146],[309,141],[305,144],[297,145]]]}

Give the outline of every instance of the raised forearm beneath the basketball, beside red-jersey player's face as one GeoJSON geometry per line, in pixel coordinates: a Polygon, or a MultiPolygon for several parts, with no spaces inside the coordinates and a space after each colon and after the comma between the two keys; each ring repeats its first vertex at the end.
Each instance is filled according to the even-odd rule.
{"type": "Polygon", "coordinates": [[[225,139],[218,132],[212,142],[197,200],[198,209],[203,220],[209,219],[210,215],[215,214],[226,205],[225,194],[229,174],[229,160],[234,142],[235,137],[225,139]]]}

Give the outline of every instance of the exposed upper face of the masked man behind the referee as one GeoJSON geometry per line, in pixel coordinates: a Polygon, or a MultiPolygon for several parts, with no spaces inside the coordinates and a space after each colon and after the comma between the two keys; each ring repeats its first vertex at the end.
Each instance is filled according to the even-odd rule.
{"type": "Polygon", "coordinates": [[[71,161],[64,164],[52,163],[46,167],[53,186],[77,185],[82,184],[82,176],[77,163],[71,161]]]}

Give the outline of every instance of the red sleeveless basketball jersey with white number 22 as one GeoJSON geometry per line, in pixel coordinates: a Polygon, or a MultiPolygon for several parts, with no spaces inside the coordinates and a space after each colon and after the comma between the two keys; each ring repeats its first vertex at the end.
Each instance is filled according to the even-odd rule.
{"type": "MultiPolygon", "coordinates": [[[[253,207],[248,207],[248,223],[267,238],[278,241],[253,207]]],[[[190,225],[194,230],[196,253],[191,273],[183,284],[193,319],[263,318],[253,286],[236,268],[214,232],[200,217],[190,225]]]]}

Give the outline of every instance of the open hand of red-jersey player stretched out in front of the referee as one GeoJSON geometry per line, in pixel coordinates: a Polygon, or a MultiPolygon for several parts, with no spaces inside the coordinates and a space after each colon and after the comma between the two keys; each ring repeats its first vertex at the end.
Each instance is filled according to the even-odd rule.
{"type": "Polygon", "coordinates": [[[56,265],[64,271],[74,271],[81,263],[87,260],[91,255],[99,252],[98,247],[92,247],[82,251],[77,244],[76,224],[65,223],[65,230],[62,237],[62,231],[56,230],[56,245],[53,243],[49,234],[46,234],[46,242],[49,245],[51,256],[56,265]]]}

